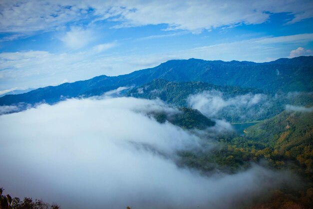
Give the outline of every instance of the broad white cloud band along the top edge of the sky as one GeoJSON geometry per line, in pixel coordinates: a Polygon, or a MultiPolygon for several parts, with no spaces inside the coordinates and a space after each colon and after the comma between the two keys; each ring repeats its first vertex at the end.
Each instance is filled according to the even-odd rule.
{"type": "Polygon", "coordinates": [[[309,0],[288,1],[1,1],[2,32],[51,30],[77,20],[109,20],[115,27],[167,24],[167,30],[202,30],[260,24],[270,13],[290,13],[288,23],[313,17],[309,0]],[[88,12],[92,9],[92,12],[88,12]]]}

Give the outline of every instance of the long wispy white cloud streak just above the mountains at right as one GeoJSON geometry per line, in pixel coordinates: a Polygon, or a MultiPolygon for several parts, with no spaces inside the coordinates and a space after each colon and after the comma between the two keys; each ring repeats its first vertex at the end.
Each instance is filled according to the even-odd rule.
{"type": "Polygon", "coordinates": [[[287,57],[288,52],[299,44],[305,45],[313,41],[313,34],[298,34],[292,36],[260,37],[242,41],[214,44],[177,52],[177,55],[187,57],[192,55],[199,59],[210,60],[247,60],[268,62],[281,57],[287,57]],[[287,50],[289,49],[289,50],[287,50]],[[274,57],[268,57],[268,56],[274,57]]]}

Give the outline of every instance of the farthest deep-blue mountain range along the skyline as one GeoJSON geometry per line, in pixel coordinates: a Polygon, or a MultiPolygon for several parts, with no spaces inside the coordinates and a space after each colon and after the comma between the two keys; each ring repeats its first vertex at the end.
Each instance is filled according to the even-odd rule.
{"type": "Polygon", "coordinates": [[[139,86],[154,79],[199,81],[219,86],[257,88],[264,91],[313,91],[313,57],[278,59],[268,63],[238,61],[170,60],[130,74],[97,76],[85,81],[39,88],[0,97],[0,105],[55,103],[63,98],[101,95],[121,86],[139,86]]]}

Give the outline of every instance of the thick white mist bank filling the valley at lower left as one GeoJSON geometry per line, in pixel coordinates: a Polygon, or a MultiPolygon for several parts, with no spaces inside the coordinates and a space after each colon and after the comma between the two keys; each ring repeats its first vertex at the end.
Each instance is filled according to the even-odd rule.
{"type": "Polygon", "coordinates": [[[178,111],[160,100],[95,97],[1,115],[0,186],[63,209],[223,209],[287,180],[257,165],[209,177],[177,167],[176,151],[203,139],[147,114],[158,110],[178,111]]]}

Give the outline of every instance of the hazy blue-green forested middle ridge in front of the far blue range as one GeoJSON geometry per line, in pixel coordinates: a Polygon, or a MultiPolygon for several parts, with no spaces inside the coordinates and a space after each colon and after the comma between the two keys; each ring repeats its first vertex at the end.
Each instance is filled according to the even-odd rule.
{"type": "Polygon", "coordinates": [[[222,92],[225,101],[236,96],[246,94],[262,94],[262,99],[254,105],[228,106],[216,113],[216,118],[225,119],[232,123],[264,120],[271,118],[285,109],[286,104],[299,106],[312,106],[312,92],[296,93],[269,93],[258,89],[239,88],[230,86],[216,86],[203,82],[169,82],[166,80],[153,80],[152,82],[130,90],[126,95],[156,99],[177,107],[187,107],[187,98],[203,91],[216,90],[222,92]]]}

